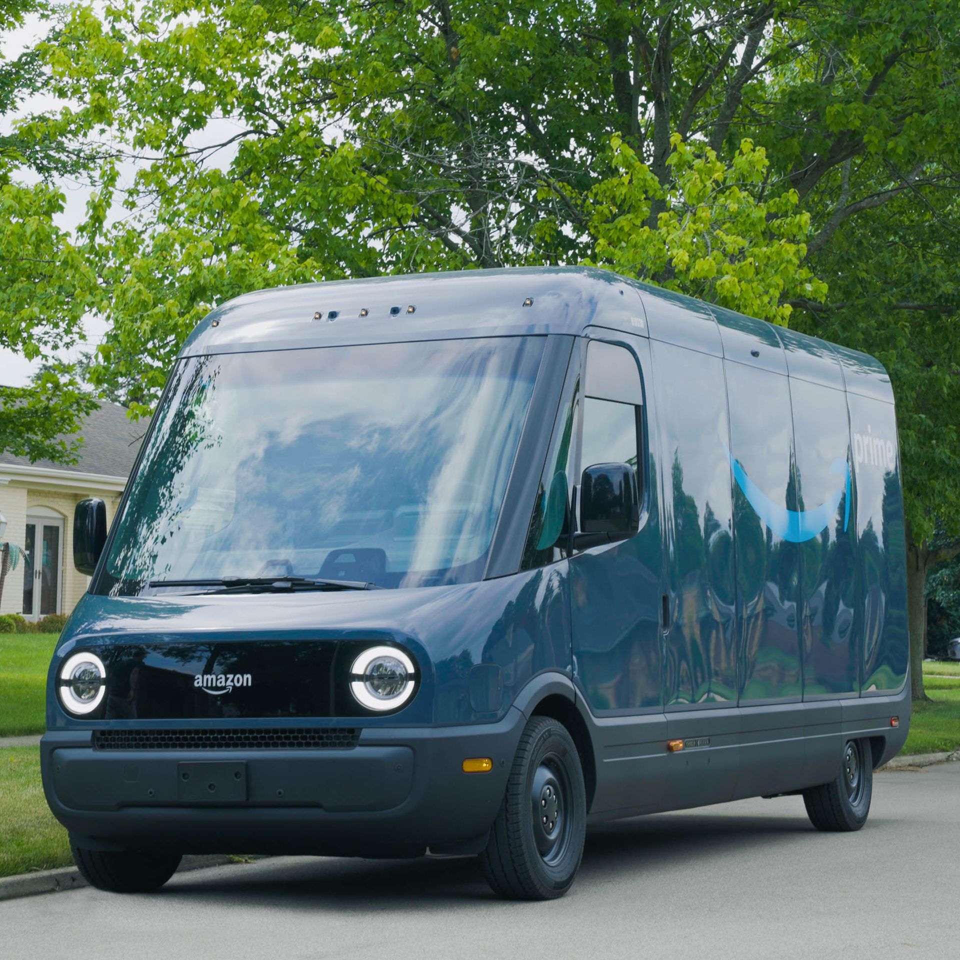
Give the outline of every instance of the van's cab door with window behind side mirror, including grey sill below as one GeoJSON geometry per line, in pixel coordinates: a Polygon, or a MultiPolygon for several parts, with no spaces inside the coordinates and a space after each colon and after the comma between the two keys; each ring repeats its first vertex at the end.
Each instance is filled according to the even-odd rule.
{"type": "Polygon", "coordinates": [[[657,794],[663,756],[660,698],[659,468],[644,383],[649,342],[597,330],[588,341],[580,418],[575,509],[583,470],[628,464],[636,470],[639,529],[628,540],[574,549],[570,559],[574,680],[597,718],[593,810],[647,804],[657,794]],[[642,792],[641,792],[642,790],[642,792]]]}

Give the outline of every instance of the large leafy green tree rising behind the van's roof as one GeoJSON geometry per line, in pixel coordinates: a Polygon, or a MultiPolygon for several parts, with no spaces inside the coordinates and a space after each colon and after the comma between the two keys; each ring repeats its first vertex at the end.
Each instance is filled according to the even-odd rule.
{"type": "Polygon", "coordinates": [[[254,286],[591,259],[879,355],[923,577],[960,503],[958,38],[952,0],[79,7],[70,129],[142,163],[92,375],[149,405],[254,286]]]}

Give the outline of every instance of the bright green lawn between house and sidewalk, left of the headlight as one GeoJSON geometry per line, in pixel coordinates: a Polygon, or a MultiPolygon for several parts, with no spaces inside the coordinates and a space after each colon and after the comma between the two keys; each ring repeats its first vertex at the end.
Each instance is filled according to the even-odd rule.
{"type": "Polygon", "coordinates": [[[59,634],[0,634],[0,736],[42,733],[47,667],[59,634]]]}

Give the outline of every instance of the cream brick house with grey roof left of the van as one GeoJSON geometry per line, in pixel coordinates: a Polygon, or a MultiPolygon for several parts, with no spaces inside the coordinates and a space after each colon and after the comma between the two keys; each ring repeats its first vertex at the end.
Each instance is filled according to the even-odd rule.
{"type": "Polygon", "coordinates": [[[149,423],[127,418],[125,407],[100,403],[82,423],[84,443],[76,464],[0,453],[0,515],[4,540],[23,548],[21,564],[7,575],[0,614],[22,613],[38,620],[69,613],[89,578],[73,565],[73,510],[88,496],[107,504],[112,521],[149,423]]]}

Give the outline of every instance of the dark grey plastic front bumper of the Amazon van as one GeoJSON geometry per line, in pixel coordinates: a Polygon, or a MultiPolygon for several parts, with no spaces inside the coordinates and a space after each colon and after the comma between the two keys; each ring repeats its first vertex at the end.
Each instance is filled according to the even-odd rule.
{"type": "Polygon", "coordinates": [[[348,750],[100,750],[92,732],[41,740],[47,803],[74,843],[184,853],[416,856],[482,849],[526,718],[495,724],[369,728],[348,750]],[[465,774],[468,756],[490,773],[465,774]],[[185,793],[189,764],[232,764],[243,788],[185,793]],[[228,796],[224,796],[227,790],[228,796]]]}

